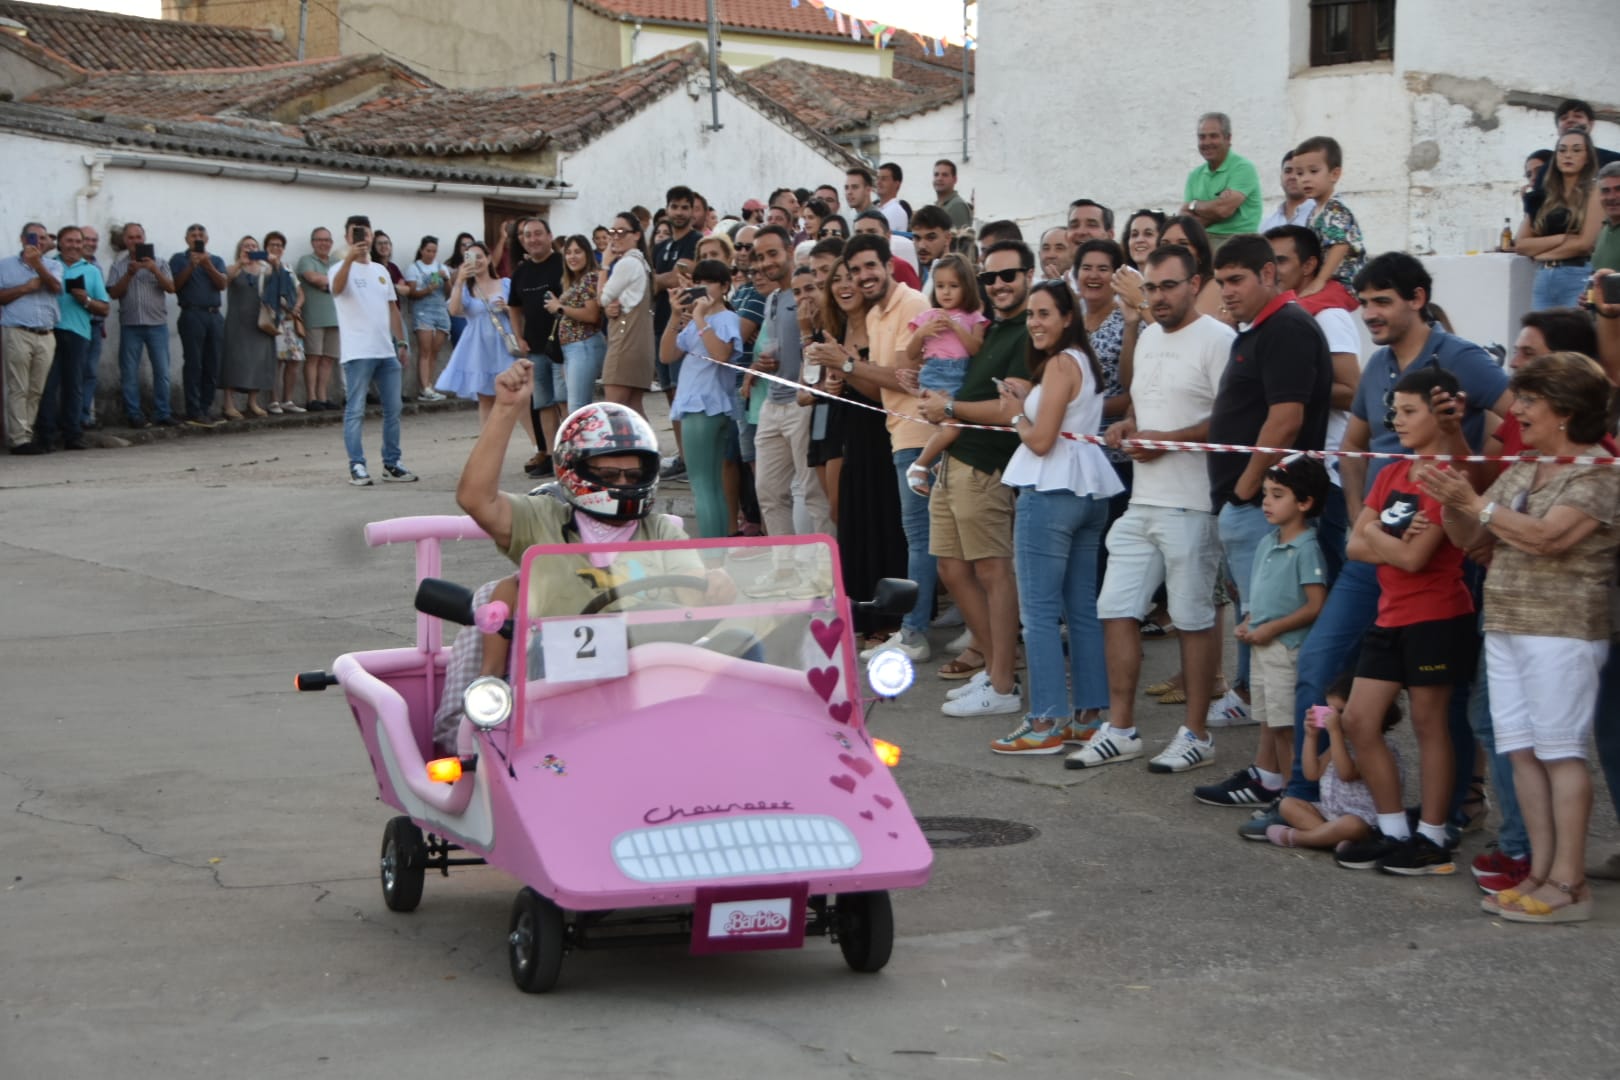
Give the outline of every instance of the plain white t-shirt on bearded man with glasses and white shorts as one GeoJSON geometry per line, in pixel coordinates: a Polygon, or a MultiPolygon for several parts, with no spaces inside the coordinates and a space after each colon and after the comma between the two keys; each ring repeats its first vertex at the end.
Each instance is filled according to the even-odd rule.
{"type": "MultiPolygon", "coordinates": [[[[1215,408],[1220,377],[1231,359],[1236,332],[1210,316],[1165,334],[1157,322],[1136,343],[1131,410],[1137,431],[1178,431],[1205,419],[1215,408]]],[[[1210,476],[1204,453],[1171,450],[1137,461],[1131,505],[1210,510],[1210,476]]]]}

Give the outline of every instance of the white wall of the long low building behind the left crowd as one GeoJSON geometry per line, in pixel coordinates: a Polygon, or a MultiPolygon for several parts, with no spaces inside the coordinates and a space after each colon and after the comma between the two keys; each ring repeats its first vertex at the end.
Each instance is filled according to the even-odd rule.
{"type": "MultiPolygon", "coordinates": [[[[0,230],[13,235],[24,219],[45,222],[50,228],[66,223],[96,225],[102,235],[97,259],[102,269],[112,266],[113,251],[107,238],[115,225],[141,222],[157,253],[167,261],[185,246],[186,227],[193,222],[209,230],[209,248],[230,262],[237,241],[245,235],[264,240],[269,230],[287,235],[288,257],[296,261],[309,253],[309,232],[324,225],[342,233],[350,214],[368,214],[373,227],[394,240],[397,264],[405,264],[423,235],[436,235],[449,244],[455,233],[483,232],[483,199],[463,194],[426,194],[411,191],[350,191],[305,183],[274,183],[227,176],[201,176],[156,168],[107,168],[100,193],[87,201],[87,212],[78,210],[75,193],[86,188],[91,170],[86,155],[97,147],[58,142],[31,136],[0,133],[0,191],[5,199],[0,230]]],[[[379,181],[387,183],[387,181],[379,181]]],[[[337,246],[342,249],[342,244],[337,246]]],[[[173,334],[178,309],[170,300],[168,366],[177,402],[181,397],[180,337],[173,334]]],[[[113,301],[107,321],[107,343],[97,374],[97,397],[102,408],[118,400],[118,303],[113,301]]],[[[143,359],[143,384],[151,385],[143,359]]],[[[122,415],[122,410],[117,410],[122,415]]]]}

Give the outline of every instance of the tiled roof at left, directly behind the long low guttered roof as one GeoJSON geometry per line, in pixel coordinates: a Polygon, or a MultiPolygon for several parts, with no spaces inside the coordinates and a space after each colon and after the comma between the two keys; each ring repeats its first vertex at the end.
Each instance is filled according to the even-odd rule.
{"type": "MultiPolygon", "coordinates": [[[[381,55],[335,57],[279,63],[264,68],[204,71],[118,71],[87,74],[63,86],[34,92],[36,105],[79,112],[109,112],[122,117],[162,120],[245,118],[275,120],[277,108],[309,99],[321,105],[321,92],[350,79],[382,76],[386,84],[429,87],[421,74],[381,55]]],[[[337,102],[332,102],[337,104],[337,102]]],[[[284,117],[296,120],[296,117],[284,117]]]]}

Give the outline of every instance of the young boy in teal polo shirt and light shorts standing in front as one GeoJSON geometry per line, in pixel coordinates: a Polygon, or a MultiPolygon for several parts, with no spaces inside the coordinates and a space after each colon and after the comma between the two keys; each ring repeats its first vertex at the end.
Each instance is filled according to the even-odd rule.
{"type": "Polygon", "coordinates": [[[1267,470],[1260,510],[1277,526],[1254,551],[1249,617],[1236,636],[1249,644],[1251,709],[1260,722],[1254,764],[1220,784],[1194,789],[1210,806],[1265,806],[1283,793],[1294,758],[1294,670],[1299,646],[1327,601],[1327,562],[1312,518],[1332,487],[1322,461],[1290,453],[1267,470]]]}

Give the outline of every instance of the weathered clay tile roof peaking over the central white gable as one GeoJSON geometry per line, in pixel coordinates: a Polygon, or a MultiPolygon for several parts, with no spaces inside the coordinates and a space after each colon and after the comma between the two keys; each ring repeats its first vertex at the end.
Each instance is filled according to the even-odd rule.
{"type": "MultiPolygon", "coordinates": [[[[454,157],[518,154],[556,146],[575,151],[669,92],[708,71],[703,45],[692,44],[642,63],[572,83],[515,89],[424,89],[387,94],[355,108],[305,123],[316,146],[361,154],[454,157]]],[[[727,68],[721,81],[761,112],[841,160],[846,151],[781,102],[740,83],[727,68]]]]}

